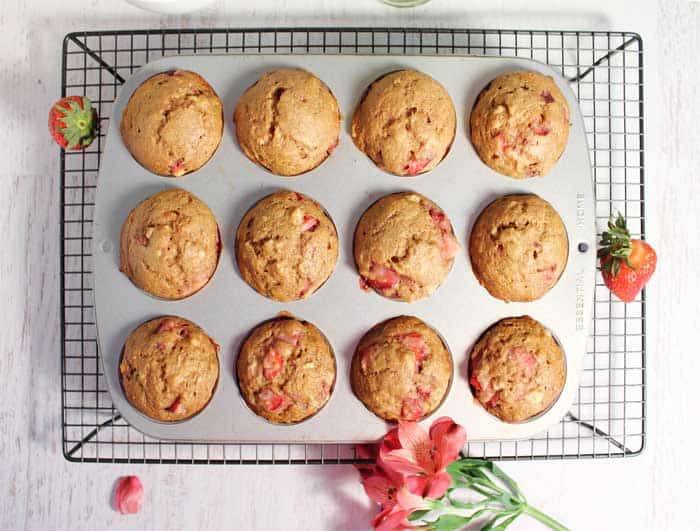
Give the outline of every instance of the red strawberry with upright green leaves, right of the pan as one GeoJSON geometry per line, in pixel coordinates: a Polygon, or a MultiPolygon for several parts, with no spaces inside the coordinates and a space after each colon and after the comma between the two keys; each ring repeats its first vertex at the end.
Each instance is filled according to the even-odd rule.
{"type": "Polygon", "coordinates": [[[642,240],[633,240],[622,214],[603,233],[598,249],[605,285],[623,302],[632,302],[656,269],[656,252],[642,240]]]}

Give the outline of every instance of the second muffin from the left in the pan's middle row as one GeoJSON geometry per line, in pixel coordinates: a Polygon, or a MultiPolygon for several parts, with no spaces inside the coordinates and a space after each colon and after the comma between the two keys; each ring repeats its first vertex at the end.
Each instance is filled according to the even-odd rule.
{"type": "Polygon", "coordinates": [[[338,261],[338,234],[313,199],[279,190],[260,200],[238,225],[236,260],[245,280],[280,302],[305,299],[338,261]]]}

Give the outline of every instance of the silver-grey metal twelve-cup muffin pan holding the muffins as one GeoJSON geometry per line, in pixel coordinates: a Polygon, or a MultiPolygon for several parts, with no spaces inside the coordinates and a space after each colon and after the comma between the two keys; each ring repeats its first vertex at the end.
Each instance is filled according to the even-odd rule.
{"type": "Polygon", "coordinates": [[[590,325],[595,283],[594,197],[583,120],[567,82],[548,66],[520,58],[457,56],[350,55],[210,55],[160,59],[138,70],[122,87],[114,105],[100,162],[94,226],[95,311],[100,358],[112,400],[139,431],[160,439],[231,443],[349,443],[375,441],[389,425],[368,411],[350,387],[350,362],[362,335],[376,323],[398,315],[415,315],[434,327],[452,352],[454,373],[442,405],[424,423],[449,415],[474,440],[532,437],[557,423],[578,389],[581,361],[590,325]],[[235,138],[233,110],[243,91],[264,72],[305,68],[321,78],[338,98],[343,113],[340,145],[319,167],[297,177],[273,175],[241,152],[235,138]],[[397,177],[379,170],[353,144],[349,123],[367,86],[392,70],[413,68],[431,75],[447,89],[457,111],[452,149],[433,171],[397,177]],[[200,170],[182,178],[151,174],[128,153],[119,134],[119,119],[131,93],[148,77],[167,70],[201,74],[224,103],[224,136],[218,151],[200,170]],[[515,180],[482,163],[469,140],[469,113],[479,92],[497,75],[536,70],[553,76],[571,110],[569,144],[553,170],[541,178],[515,180]],[[150,297],[119,272],[119,233],[129,211],[142,199],[166,188],[194,193],[219,222],[223,252],[209,284],[181,301],[150,297]],[[333,219],[340,256],[329,280],[311,297],[293,303],[269,300],[241,278],[235,262],[235,232],[248,209],[262,197],[285,188],[317,201],[333,219]],[[426,299],[393,301],[362,291],[352,245],[355,226],[378,198],[413,190],[437,203],[449,216],[461,245],[452,271],[426,299]],[[561,215],[569,236],[569,260],[557,285],[538,301],[504,303],[482,288],[467,252],[471,227],[482,209],[505,194],[535,193],[561,215]],[[275,425],[255,415],[240,395],[235,360],[238,349],[258,324],[280,312],[308,320],[328,338],[336,356],[335,389],[316,415],[294,425],[275,425]],[[161,315],[178,315],[201,326],[220,345],[219,384],[198,415],[173,424],[142,415],[126,400],[119,381],[119,359],[129,333],[161,315]],[[508,424],[487,413],[473,398],[467,382],[471,347],[496,321],[530,315],[548,327],[566,356],[566,384],[545,413],[508,424]]]}

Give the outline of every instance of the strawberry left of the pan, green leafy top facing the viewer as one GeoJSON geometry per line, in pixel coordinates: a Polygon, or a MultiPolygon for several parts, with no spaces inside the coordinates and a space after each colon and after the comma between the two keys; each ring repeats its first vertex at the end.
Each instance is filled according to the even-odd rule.
{"type": "Polygon", "coordinates": [[[84,149],[97,136],[97,111],[85,96],[67,96],[49,111],[49,131],[63,149],[84,149]]]}

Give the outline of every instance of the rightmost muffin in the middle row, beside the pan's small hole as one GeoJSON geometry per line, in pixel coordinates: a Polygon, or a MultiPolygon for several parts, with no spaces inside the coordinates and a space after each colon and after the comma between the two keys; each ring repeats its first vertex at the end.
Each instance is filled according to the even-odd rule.
{"type": "Polygon", "coordinates": [[[557,283],[569,256],[566,227],[536,195],[507,195],[479,215],[469,239],[479,283],[506,302],[529,302],[557,283]]]}

